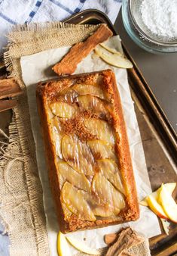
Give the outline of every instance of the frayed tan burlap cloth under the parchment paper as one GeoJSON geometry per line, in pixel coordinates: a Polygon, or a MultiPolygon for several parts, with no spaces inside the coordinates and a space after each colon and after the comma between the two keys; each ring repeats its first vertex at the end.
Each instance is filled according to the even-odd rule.
{"type": "MultiPolygon", "coordinates": [[[[0,162],[0,217],[10,236],[10,254],[13,256],[50,254],[20,57],[75,44],[93,33],[97,26],[60,22],[31,24],[15,27],[8,35],[10,42],[5,64],[10,76],[15,76],[23,89],[9,126],[9,143],[2,143],[0,162]]],[[[148,240],[130,248],[129,253],[149,255],[148,240]]]]}

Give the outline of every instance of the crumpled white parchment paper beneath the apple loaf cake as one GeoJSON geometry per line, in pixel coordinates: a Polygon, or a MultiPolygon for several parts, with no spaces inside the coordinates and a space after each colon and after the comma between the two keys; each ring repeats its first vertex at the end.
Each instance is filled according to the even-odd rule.
{"type": "MultiPolygon", "coordinates": [[[[118,36],[114,36],[115,48],[120,45],[118,36]]],[[[56,235],[59,231],[59,226],[56,221],[55,209],[53,207],[53,198],[50,193],[48,183],[47,167],[44,157],[43,141],[41,139],[41,128],[39,126],[39,117],[36,106],[35,89],[36,83],[54,77],[51,70],[53,64],[60,61],[63,55],[69,51],[69,47],[50,49],[44,52],[39,52],[34,55],[23,56],[20,60],[23,81],[26,84],[27,95],[29,101],[29,112],[32,123],[32,133],[35,139],[35,150],[38,162],[38,172],[43,187],[44,211],[47,220],[47,233],[50,243],[50,254],[57,255],[56,252],[56,235]]],[[[136,120],[133,100],[130,96],[130,88],[127,81],[127,70],[111,67],[105,64],[99,57],[95,57],[93,52],[84,58],[75,73],[86,73],[97,70],[111,68],[114,70],[117,80],[118,90],[121,95],[121,101],[124,109],[124,118],[127,124],[127,133],[130,143],[130,151],[133,160],[133,170],[136,179],[136,186],[139,200],[151,192],[151,186],[148,179],[148,171],[145,164],[145,156],[142,148],[142,140],[139,133],[139,126],[136,120]],[[93,57],[94,56],[94,57],[93,57]]],[[[157,236],[160,234],[160,226],[155,214],[148,208],[140,206],[140,218],[136,222],[125,223],[123,225],[108,226],[101,229],[92,229],[71,233],[67,236],[75,236],[75,239],[84,241],[88,246],[93,248],[101,248],[105,246],[103,236],[106,233],[117,232],[122,226],[130,225],[137,232],[145,237],[157,236]]],[[[77,252],[74,248],[72,254],[77,252]]]]}

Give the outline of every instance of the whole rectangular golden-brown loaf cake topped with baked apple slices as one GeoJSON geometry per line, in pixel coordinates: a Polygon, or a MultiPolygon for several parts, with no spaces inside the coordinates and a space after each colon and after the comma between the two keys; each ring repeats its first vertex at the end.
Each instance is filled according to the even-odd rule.
{"type": "Polygon", "coordinates": [[[114,72],[39,83],[37,102],[61,231],[136,220],[139,205],[114,72]]]}

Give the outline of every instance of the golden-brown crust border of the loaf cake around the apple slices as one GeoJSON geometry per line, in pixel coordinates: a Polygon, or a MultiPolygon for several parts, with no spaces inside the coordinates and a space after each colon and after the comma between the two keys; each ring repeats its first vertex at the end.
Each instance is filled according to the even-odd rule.
{"type": "Polygon", "coordinates": [[[133,166],[130,158],[130,148],[127,139],[127,130],[124,122],[121,98],[117,91],[117,84],[112,70],[102,70],[93,73],[83,73],[72,76],[62,76],[57,80],[50,80],[39,83],[36,91],[38,114],[41,117],[41,128],[46,152],[48,174],[53,198],[56,203],[56,214],[63,233],[76,231],[78,229],[92,229],[96,227],[108,226],[117,223],[124,223],[139,218],[139,204],[136,194],[136,184],[133,176],[133,166]],[[100,83],[99,78],[102,78],[100,83]],[[60,98],[60,92],[73,84],[96,85],[99,83],[104,87],[105,95],[111,102],[111,127],[114,130],[114,150],[117,155],[117,165],[121,172],[122,182],[125,189],[125,208],[116,217],[96,218],[95,221],[82,220],[76,214],[70,213],[63,207],[61,201],[61,184],[57,174],[56,147],[50,133],[50,117],[48,105],[60,98]]]}

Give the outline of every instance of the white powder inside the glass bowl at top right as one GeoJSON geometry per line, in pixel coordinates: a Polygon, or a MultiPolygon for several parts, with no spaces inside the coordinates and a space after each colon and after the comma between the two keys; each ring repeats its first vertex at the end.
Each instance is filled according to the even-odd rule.
{"type": "Polygon", "coordinates": [[[177,0],[142,0],[140,11],[151,33],[177,38],[177,0]]]}

